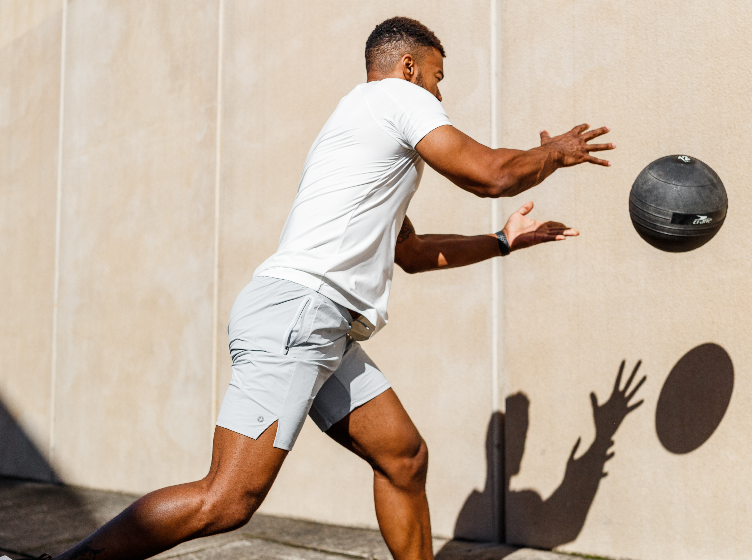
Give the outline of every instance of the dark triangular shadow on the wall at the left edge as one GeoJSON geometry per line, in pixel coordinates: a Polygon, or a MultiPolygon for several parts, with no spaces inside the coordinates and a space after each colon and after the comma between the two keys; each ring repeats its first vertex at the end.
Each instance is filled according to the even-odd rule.
{"type": "Polygon", "coordinates": [[[58,480],[44,455],[0,401],[0,476],[2,475],[45,482],[58,480]]]}

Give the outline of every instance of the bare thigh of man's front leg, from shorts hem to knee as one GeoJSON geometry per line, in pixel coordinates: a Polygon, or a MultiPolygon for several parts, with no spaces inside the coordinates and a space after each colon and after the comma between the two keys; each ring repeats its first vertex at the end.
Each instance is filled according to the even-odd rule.
{"type": "Polygon", "coordinates": [[[423,446],[423,438],[391,388],[354,409],[326,434],[381,472],[391,470],[394,461],[416,457],[423,446]]]}

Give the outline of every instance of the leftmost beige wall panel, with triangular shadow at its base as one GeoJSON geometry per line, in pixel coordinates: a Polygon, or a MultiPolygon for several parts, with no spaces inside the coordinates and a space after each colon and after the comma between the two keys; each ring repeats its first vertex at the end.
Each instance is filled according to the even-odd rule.
{"type": "Polygon", "coordinates": [[[0,2],[2,472],[50,478],[59,2],[0,2]],[[40,343],[41,342],[41,343],[40,343]]]}

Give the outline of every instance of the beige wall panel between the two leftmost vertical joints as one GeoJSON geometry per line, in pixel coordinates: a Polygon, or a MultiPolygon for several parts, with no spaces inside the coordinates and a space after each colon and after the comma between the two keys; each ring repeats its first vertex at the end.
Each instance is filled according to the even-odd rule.
{"type": "Polygon", "coordinates": [[[211,452],[217,2],[77,0],[67,32],[53,467],[143,492],[211,452]]]}

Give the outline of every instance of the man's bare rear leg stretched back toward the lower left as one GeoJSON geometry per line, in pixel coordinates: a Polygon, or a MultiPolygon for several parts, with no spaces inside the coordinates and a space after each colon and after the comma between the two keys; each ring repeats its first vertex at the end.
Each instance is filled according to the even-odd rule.
{"type": "Polygon", "coordinates": [[[55,560],[149,558],[185,540],[245,525],[287,457],[272,446],[276,434],[276,422],[258,440],[217,427],[205,478],[139,498],[55,560]]]}

